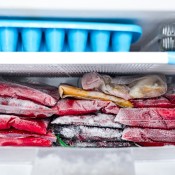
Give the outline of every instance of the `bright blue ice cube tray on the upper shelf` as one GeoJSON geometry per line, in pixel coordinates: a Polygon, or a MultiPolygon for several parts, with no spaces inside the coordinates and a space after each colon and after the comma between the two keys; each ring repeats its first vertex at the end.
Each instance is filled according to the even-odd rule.
{"type": "Polygon", "coordinates": [[[128,52],[141,34],[132,24],[0,19],[0,51],[128,52]]]}

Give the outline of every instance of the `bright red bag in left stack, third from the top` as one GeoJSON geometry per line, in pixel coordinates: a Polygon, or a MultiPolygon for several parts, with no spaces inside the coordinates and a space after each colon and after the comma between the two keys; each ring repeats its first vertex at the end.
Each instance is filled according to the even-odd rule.
{"type": "Polygon", "coordinates": [[[48,124],[48,120],[30,120],[20,118],[14,115],[0,114],[0,130],[15,128],[18,130],[29,131],[32,133],[46,134],[48,124]]]}

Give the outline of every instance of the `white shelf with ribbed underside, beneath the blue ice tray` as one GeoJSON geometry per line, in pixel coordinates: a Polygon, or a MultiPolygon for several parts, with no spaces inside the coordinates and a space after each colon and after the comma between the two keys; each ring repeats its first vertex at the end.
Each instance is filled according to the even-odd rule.
{"type": "Polygon", "coordinates": [[[73,76],[108,74],[175,74],[167,53],[0,53],[0,74],[73,76]]]}

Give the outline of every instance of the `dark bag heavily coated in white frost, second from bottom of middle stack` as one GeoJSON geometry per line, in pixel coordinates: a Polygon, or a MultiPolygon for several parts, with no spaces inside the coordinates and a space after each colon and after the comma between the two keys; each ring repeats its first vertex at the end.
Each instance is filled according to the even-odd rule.
{"type": "Polygon", "coordinates": [[[120,129],[86,126],[54,125],[54,132],[61,138],[80,141],[121,141],[122,136],[120,129]]]}

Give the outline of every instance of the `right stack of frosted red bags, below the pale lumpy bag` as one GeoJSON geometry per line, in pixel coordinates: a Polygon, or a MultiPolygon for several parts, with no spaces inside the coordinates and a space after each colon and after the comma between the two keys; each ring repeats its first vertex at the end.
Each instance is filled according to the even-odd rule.
{"type": "Polygon", "coordinates": [[[175,145],[175,85],[165,95],[132,100],[135,108],[120,109],[115,121],[128,127],[122,139],[141,146],[175,145]]]}

